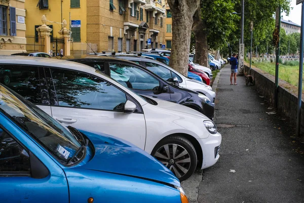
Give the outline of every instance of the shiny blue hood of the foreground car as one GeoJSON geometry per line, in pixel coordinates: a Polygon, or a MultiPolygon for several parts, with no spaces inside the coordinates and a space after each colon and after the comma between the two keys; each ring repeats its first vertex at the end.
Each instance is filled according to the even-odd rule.
{"type": "Polygon", "coordinates": [[[133,144],[106,134],[81,132],[93,143],[95,154],[79,168],[180,186],[179,180],[167,167],[133,144]]]}

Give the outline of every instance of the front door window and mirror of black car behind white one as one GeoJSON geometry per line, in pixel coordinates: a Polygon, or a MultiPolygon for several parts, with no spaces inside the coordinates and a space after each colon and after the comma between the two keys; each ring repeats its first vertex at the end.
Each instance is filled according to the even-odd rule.
{"type": "Polygon", "coordinates": [[[110,76],[144,96],[171,101],[170,87],[153,74],[131,64],[109,62],[110,76]]]}

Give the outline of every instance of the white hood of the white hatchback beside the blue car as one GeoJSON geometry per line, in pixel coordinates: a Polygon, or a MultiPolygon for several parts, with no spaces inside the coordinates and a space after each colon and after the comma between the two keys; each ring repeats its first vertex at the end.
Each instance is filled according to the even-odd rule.
{"type": "Polygon", "coordinates": [[[157,106],[155,106],[157,109],[162,110],[162,111],[169,111],[172,114],[183,114],[184,116],[192,116],[192,117],[200,117],[206,120],[210,120],[207,116],[205,116],[204,114],[191,109],[189,107],[183,106],[183,105],[179,105],[176,103],[173,103],[171,101],[166,101],[166,100],[162,100],[162,99],[156,99],[153,97],[149,97],[153,100],[155,100],[157,102],[157,106]]]}

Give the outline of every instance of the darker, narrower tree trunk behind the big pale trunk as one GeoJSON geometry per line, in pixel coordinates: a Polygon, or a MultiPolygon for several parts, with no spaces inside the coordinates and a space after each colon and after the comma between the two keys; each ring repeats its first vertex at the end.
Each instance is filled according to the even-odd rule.
{"type": "Polygon", "coordinates": [[[195,36],[195,63],[208,67],[208,39],[206,24],[202,20],[201,8],[193,16],[193,32],[195,36]]]}

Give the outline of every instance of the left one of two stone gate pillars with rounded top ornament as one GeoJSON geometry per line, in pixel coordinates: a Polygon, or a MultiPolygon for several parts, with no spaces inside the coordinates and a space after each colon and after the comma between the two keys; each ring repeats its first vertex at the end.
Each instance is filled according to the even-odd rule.
{"type": "Polygon", "coordinates": [[[42,52],[51,54],[51,31],[52,28],[47,26],[47,18],[45,15],[42,16],[42,25],[37,27],[36,30],[39,32],[39,43],[44,45],[44,49],[40,50],[42,52]],[[42,38],[44,38],[44,42],[42,42],[42,38]]]}

